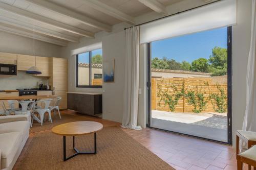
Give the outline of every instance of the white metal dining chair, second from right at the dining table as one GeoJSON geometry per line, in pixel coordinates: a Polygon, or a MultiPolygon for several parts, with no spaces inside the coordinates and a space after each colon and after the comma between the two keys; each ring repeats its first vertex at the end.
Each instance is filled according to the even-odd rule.
{"type": "Polygon", "coordinates": [[[51,111],[50,111],[50,108],[49,108],[49,105],[50,105],[51,101],[52,101],[52,99],[38,100],[34,103],[34,108],[33,108],[33,111],[32,111],[32,114],[33,114],[32,115],[32,123],[33,123],[34,116],[35,116],[36,113],[39,114],[41,126],[42,126],[42,123],[44,122],[44,118],[45,118],[46,113],[48,113],[49,120],[52,123],[51,111]],[[39,102],[44,103],[44,107],[41,107],[41,108],[35,107],[36,104],[39,103],[39,102]]]}

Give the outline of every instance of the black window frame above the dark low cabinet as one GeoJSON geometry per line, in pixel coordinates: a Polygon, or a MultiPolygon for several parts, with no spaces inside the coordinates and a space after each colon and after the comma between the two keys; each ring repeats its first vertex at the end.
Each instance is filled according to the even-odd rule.
{"type": "MultiPolygon", "coordinates": [[[[95,49],[95,50],[98,50],[98,49],[95,49]]],[[[102,88],[102,85],[101,86],[92,85],[92,51],[84,52],[84,53],[89,53],[89,65],[90,65],[89,66],[89,85],[78,85],[78,55],[82,53],[79,53],[76,55],[76,87],[78,88],[102,88]]],[[[103,71],[103,67],[102,67],[102,71],[103,71]]]]}

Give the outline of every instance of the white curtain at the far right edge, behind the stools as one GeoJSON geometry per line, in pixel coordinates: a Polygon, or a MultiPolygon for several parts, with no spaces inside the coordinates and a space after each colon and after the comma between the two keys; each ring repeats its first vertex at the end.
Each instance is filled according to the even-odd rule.
{"type": "Polygon", "coordinates": [[[255,48],[256,48],[256,0],[252,0],[251,18],[251,45],[246,76],[246,110],[243,130],[256,132],[256,74],[255,74],[255,48]]]}

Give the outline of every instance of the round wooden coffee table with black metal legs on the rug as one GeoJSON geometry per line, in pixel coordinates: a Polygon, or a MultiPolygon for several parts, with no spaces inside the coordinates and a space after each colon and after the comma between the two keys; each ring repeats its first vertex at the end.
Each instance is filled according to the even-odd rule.
{"type": "Polygon", "coordinates": [[[103,125],[98,122],[81,121],[81,122],[71,122],[66,124],[61,124],[52,128],[52,132],[57,135],[63,136],[63,161],[73,158],[79,154],[96,154],[97,153],[97,141],[96,132],[100,131],[103,125]],[[75,136],[77,135],[87,135],[94,133],[94,152],[81,152],[75,148],[75,136]],[[75,154],[66,157],[66,136],[73,136],[73,149],[75,154]]]}

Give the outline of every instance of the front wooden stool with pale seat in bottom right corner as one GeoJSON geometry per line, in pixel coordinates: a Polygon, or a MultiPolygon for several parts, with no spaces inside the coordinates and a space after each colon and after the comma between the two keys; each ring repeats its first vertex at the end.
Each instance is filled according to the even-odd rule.
{"type": "Polygon", "coordinates": [[[250,149],[237,155],[238,170],[243,169],[243,163],[248,164],[248,169],[253,166],[256,170],[256,145],[253,145],[250,149]]]}

